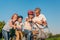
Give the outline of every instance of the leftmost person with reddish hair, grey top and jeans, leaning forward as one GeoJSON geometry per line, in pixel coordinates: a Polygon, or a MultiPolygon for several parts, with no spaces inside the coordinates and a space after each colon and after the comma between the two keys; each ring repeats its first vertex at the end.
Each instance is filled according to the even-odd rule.
{"type": "Polygon", "coordinates": [[[2,35],[4,37],[4,40],[9,40],[10,29],[12,29],[12,28],[15,29],[16,28],[16,26],[14,25],[14,23],[16,22],[17,17],[18,17],[17,14],[13,14],[11,20],[9,20],[7,22],[7,24],[5,24],[5,26],[3,27],[3,29],[2,29],[2,35]]]}

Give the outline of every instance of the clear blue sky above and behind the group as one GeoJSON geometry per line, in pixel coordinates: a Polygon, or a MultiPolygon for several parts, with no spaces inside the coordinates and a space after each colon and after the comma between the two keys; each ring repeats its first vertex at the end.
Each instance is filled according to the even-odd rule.
{"type": "Polygon", "coordinates": [[[7,22],[14,13],[25,18],[36,7],[46,16],[50,31],[60,33],[60,0],[0,0],[0,21],[7,22]]]}

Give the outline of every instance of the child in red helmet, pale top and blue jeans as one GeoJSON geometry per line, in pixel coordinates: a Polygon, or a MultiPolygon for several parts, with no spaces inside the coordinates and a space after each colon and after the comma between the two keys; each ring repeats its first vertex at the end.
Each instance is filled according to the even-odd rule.
{"type": "Polygon", "coordinates": [[[33,11],[28,11],[28,17],[24,23],[24,32],[27,34],[27,40],[31,40],[31,31],[32,31],[32,18],[34,17],[33,11]]]}

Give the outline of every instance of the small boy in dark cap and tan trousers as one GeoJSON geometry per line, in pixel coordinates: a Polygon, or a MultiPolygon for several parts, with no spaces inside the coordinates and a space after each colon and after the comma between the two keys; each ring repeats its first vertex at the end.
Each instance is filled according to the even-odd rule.
{"type": "Polygon", "coordinates": [[[16,21],[16,40],[22,40],[22,26],[23,26],[23,23],[22,23],[22,19],[23,17],[22,16],[18,16],[18,20],[16,21]],[[20,39],[19,39],[20,38],[20,39]]]}

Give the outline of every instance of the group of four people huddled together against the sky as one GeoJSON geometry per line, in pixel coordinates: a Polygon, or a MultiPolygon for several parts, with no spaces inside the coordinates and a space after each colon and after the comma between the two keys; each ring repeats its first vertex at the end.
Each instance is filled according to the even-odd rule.
{"type": "Polygon", "coordinates": [[[19,16],[16,13],[13,14],[2,29],[2,35],[5,40],[11,40],[10,34],[14,34],[14,40],[22,40],[23,36],[27,37],[26,40],[33,40],[32,35],[38,34],[38,36],[42,36],[39,33],[46,33],[44,32],[44,28],[47,26],[46,17],[41,14],[40,8],[36,8],[34,11],[29,10],[27,15],[23,23],[23,16],[19,16]]]}

